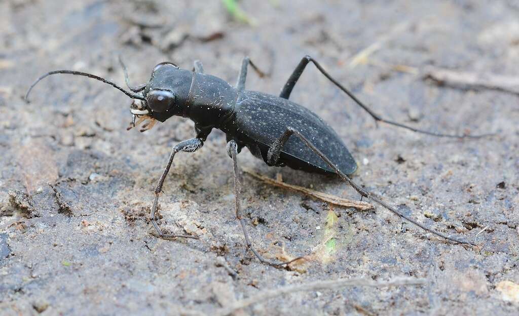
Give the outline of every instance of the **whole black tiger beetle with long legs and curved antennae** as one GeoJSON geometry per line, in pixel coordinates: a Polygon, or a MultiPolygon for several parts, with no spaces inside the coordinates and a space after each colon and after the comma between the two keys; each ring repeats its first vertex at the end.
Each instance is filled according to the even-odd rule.
{"type": "Polygon", "coordinates": [[[127,91],[112,81],[99,76],[77,71],[58,70],[39,77],[29,88],[25,99],[28,100],[32,88],[40,80],[49,75],[80,75],[112,85],[133,99],[130,106],[132,122],[128,129],[146,121],[142,126],[142,132],[151,129],[156,121],[163,122],[172,116],[187,117],[195,122],[196,137],[173,146],[166,168],[162,172],[155,187],[151,222],[158,236],[161,238],[198,238],[192,235],[174,235],[162,232],[156,222],[155,213],[157,211],[159,195],[162,192],[162,185],[171,168],[175,155],[178,152],[196,152],[203,146],[203,143],[206,141],[212,129],[216,128],[226,134],[227,154],[233,159],[236,218],[239,220],[243,230],[246,247],[250,249],[263,264],[281,267],[301,259],[304,256],[297,257],[288,262],[271,262],[264,259],[253,248],[247,229],[245,228],[246,224],[242,217],[240,207],[241,181],[237,154],[240,153],[243,147],[247,147],[255,157],[263,159],[268,166],[288,166],[307,172],[336,174],[342,178],[343,181],[352,186],[361,197],[371,199],[414,225],[455,243],[476,245],[469,241],[446,236],[441,232],[432,230],[418,223],[351,180],[350,175],[357,170],[357,163],[339,135],[315,113],[289,100],[292,89],[305,70],[306,65],[310,62],[312,62],[327,79],[337,86],[337,88],[349,95],[354,102],[370,114],[376,122],[383,122],[413,132],[440,137],[481,138],[485,136],[435,133],[384,119],[375,114],[348,89],[332,78],[332,76],[310,56],[305,56],[301,62],[299,62],[281,89],[281,93],[278,97],[267,93],[245,90],[245,78],[247,77],[249,65],[260,77],[265,75],[248,57],[245,57],[241,64],[241,71],[236,86],[231,86],[223,79],[205,74],[200,61],[195,61],[192,70],[181,69],[172,62],[160,63],[153,68],[151,79],[149,79],[147,84],[133,87],[130,85],[126,66],[122,63],[122,60],[120,60],[125,73],[126,85],[131,91],[127,91]]]}

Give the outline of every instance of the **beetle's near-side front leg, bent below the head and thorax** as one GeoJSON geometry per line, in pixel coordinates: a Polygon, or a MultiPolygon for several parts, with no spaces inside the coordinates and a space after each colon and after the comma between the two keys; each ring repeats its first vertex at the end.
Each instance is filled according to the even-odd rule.
{"type": "Polygon", "coordinates": [[[169,169],[171,168],[171,164],[173,163],[173,158],[175,158],[175,154],[178,152],[193,153],[193,152],[196,152],[198,149],[200,149],[202,146],[203,146],[203,141],[199,138],[194,138],[194,139],[190,139],[190,140],[183,141],[183,142],[176,144],[173,147],[173,149],[171,150],[171,154],[169,156],[169,160],[168,160],[168,164],[166,165],[166,169],[164,169],[164,172],[162,172],[162,175],[159,178],[159,182],[157,183],[157,186],[155,187],[155,200],[153,201],[152,212],[149,215],[151,217],[153,227],[155,227],[155,230],[157,231],[160,238],[168,239],[168,238],[174,238],[174,237],[182,237],[182,238],[198,239],[197,236],[192,236],[192,235],[172,235],[172,234],[163,233],[162,230],[159,228],[157,222],[155,221],[155,212],[157,211],[158,199],[159,199],[159,194],[162,191],[162,185],[164,184],[164,181],[166,180],[166,176],[168,175],[169,169]]]}

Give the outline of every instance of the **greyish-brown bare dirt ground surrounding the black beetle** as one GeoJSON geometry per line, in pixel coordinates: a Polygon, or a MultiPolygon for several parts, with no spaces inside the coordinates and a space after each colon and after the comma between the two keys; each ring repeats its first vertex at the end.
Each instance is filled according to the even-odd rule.
{"type": "MultiPolygon", "coordinates": [[[[425,278],[420,286],[344,287],[277,295],[236,315],[517,314],[519,96],[438,85],[427,66],[519,76],[516,1],[250,1],[247,21],[220,1],[0,3],[0,313],[213,314],[265,290],[337,278],[425,278]],[[367,50],[366,50],[367,49],[367,50]],[[367,52],[361,54],[360,52],[367,52]],[[160,225],[200,240],[155,238],[149,210],[171,147],[194,135],[173,117],[126,130],[130,100],[83,77],[134,85],[153,66],[203,62],[235,83],[277,94],[310,54],[375,112],[422,129],[495,136],[435,138],[379,124],[309,66],[291,99],[318,113],[359,163],[354,181],[404,214],[482,247],[441,240],[377,207],[331,207],[243,174],[256,248],[271,259],[315,251],[286,269],[244,249],[234,218],[225,134],[179,154],[160,200],[160,225]],[[327,222],[337,214],[332,225],[327,222]],[[333,247],[326,243],[331,234],[333,247]]],[[[359,199],[338,178],[271,168],[247,149],[243,168],[359,199]]]]}

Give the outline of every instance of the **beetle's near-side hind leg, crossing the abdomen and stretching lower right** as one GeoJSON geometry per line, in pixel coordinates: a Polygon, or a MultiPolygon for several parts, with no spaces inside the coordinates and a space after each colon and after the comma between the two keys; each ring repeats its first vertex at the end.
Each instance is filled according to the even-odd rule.
{"type": "Polygon", "coordinates": [[[296,135],[297,138],[299,138],[301,141],[303,141],[303,143],[305,143],[305,145],[308,148],[310,148],[312,150],[312,152],[314,152],[324,162],[326,162],[326,164],[328,164],[328,166],[330,166],[330,168],[332,168],[335,171],[335,173],[337,173],[339,175],[340,178],[342,178],[346,183],[348,183],[350,186],[352,186],[361,196],[371,199],[372,201],[380,204],[385,209],[393,212],[394,214],[398,215],[399,217],[404,218],[406,221],[411,222],[414,225],[420,227],[421,229],[424,229],[430,233],[433,233],[436,236],[439,236],[441,238],[444,238],[444,239],[447,239],[447,240],[450,240],[450,241],[453,241],[456,243],[476,246],[475,243],[472,243],[470,241],[464,241],[464,240],[456,239],[453,237],[449,237],[449,236],[443,235],[443,233],[441,233],[441,232],[435,231],[425,225],[422,225],[422,224],[418,223],[417,221],[415,221],[413,218],[402,214],[397,209],[393,208],[391,205],[382,201],[380,198],[378,198],[371,192],[364,190],[358,184],[351,181],[351,179],[348,175],[346,175],[342,171],[340,171],[337,168],[337,166],[335,166],[335,164],[330,160],[330,158],[326,157],[316,146],[314,146],[305,136],[303,136],[303,134],[301,134],[301,132],[299,132],[296,129],[293,129],[291,127],[287,128],[286,131],[280,136],[280,138],[272,144],[272,146],[269,148],[268,153],[267,153],[267,161],[269,161],[269,159],[270,159],[270,161],[269,161],[270,163],[277,162],[277,159],[279,159],[279,155],[281,153],[281,149],[283,148],[283,145],[286,143],[286,141],[289,140],[290,136],[292,136],[292,135],[296,135]]]}

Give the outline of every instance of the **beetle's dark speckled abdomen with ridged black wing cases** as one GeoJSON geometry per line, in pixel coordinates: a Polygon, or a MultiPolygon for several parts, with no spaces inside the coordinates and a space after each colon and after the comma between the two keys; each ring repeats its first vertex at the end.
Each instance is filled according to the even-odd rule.
{"type": "MultiPolygon", "coordinates": [[[[235,138],[245,145],[257,143],[265,162],[268,148],[288,127],[300,131],[330,158],[340,171],[352,174],[357,170],[357,163],[346,145],[315,113],[297,103],[274,95],[256,91],[240,92],[235,116],[229,122],[229,128],[233,130],[235,138]]],[[[279,162],[293,169],[334,173],[330,166],[296,136],[292,136],[286,142],[279,162]]]]}

